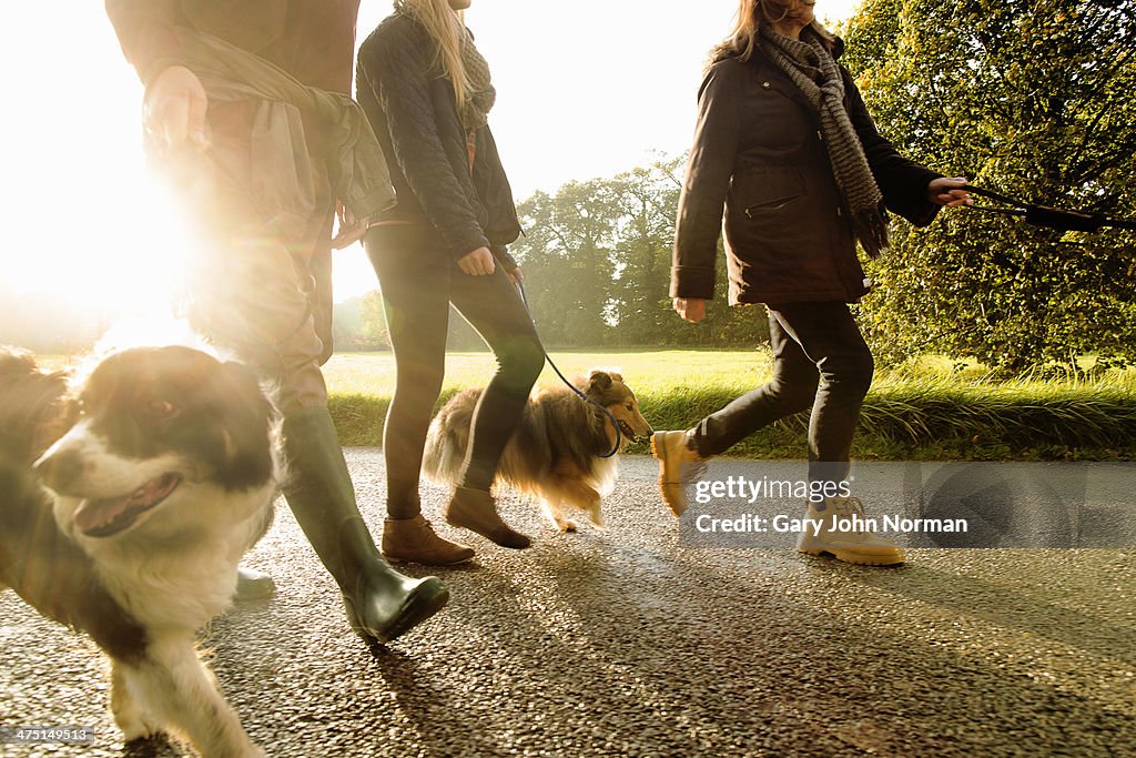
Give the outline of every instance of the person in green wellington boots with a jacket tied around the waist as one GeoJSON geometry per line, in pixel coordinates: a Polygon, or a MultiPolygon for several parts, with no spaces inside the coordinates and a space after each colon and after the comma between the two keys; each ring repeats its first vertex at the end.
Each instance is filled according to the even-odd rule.
{"type": "MultiPolygon", "coordinates": [[[[449,593],[379,555],[356,503],[320,366],[331,356],[336,201],[393,200],[381,148],[350,98],[358,0],[107,0],[145,85],[151,159],[201,236],[189,317],[278,388],[296,522],[349,622],[387,642],[449,593]]],[[[348,230],[346,234],[350,234],[348,230]]]]}

